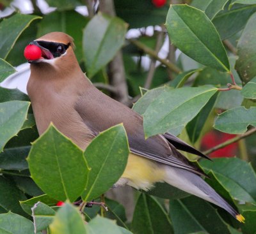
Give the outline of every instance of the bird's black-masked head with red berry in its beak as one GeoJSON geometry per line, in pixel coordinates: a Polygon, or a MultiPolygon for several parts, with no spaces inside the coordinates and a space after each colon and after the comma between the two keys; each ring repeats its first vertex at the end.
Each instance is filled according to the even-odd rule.
{"type": "Polygon", "coordinates": [[[31,64],[63,62],[64,57],[73,54],[73,38],[65,33],[48,33],[31,41],[24,50],[24,56],[31,64]]]}

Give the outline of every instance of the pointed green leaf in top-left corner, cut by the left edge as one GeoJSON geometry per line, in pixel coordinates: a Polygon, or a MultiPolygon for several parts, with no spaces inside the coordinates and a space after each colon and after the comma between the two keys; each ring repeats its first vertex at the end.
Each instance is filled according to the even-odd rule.
{"type": "Polygon", "coordinates": [[[13,45],[20,34],[29,26],[29,24],[41,17],[35,15],[21,15],[19,13],[10,18],[4,18],[0,23],[0,57],[5,59],[12,50],[13,45]]]}

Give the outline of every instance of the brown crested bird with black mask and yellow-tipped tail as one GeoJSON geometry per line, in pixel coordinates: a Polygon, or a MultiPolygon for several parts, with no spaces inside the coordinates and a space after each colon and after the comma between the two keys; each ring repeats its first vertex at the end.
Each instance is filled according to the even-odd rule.
{"type": "Polygon", "coordinates": [[[148,191],[156,182],[166,182],[227,210],[244,223],[244,217],[205,182],[205,173],[179,150],[207,156],[170,133],[145,139],[143,117],[99,91],[83,73],[71,36],[52,32],[29,45],[40,48],[40,55],[28,59],[31,75],[27,84],[39,135],[52,122],[85,150],[100,132],[124,124],[129,157],[115,186],[127,184],[148,191]]]}

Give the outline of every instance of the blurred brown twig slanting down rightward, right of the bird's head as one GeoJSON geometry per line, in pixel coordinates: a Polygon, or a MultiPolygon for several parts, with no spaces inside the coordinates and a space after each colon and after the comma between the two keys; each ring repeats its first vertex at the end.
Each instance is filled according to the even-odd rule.
{"type": "Polygon", "coordinates": [[[175,73],[180,73],[181,72],[181,70],[175,64],[173,64],[172,62],[168,61],[167,59],[161,59],[161,57],[159,57],[154,50],[152,50],[151,48],[147,47],[146,45],[144,45],[140,41],[136,41],[134,39],[128,39],[128,41],[130,41],[132,44],[136,45],[136,47],[138,47],[141,50],[143,50],[146,54],[150,55],[151,57],[153,57],[157,61],[159,61],[162,64],[164,64],[171,71],[174,71],[175,73]]]}

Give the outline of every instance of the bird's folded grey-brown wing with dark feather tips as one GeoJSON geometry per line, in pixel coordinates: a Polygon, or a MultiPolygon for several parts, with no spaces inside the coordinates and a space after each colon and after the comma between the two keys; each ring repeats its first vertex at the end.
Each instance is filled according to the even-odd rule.
{"type": "MultiPolygon", "coordinates": [[[[132,153],[165,165],[205,175],[204,172],[190,163],[185,156],[180,154],[174,144],[168,142],[164,136],[151,136],[145,140],[141,115],[122,103],[109,98],[95,87],[90,87],[79,96],[75,110],[83,119],[84,124],[92,129],[95,135],[111,126],[123,123],[132,153]]],[[[180,140],[180,142],[182,141],[180,140]]]]}

